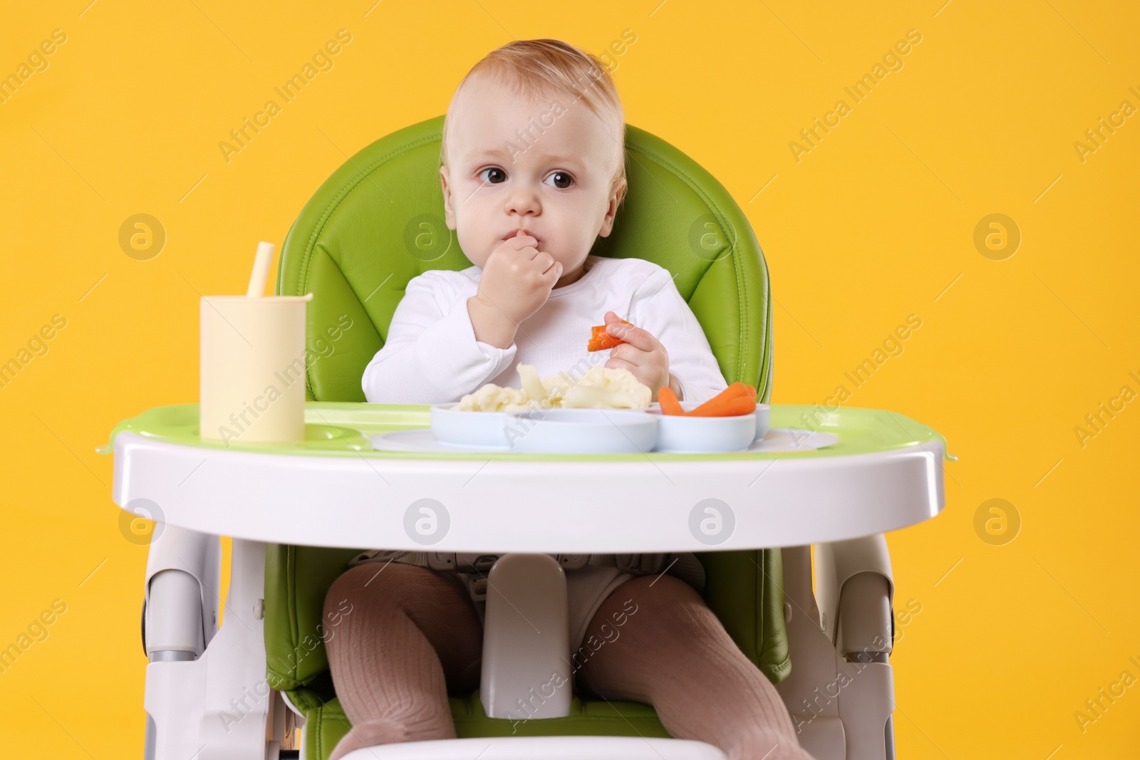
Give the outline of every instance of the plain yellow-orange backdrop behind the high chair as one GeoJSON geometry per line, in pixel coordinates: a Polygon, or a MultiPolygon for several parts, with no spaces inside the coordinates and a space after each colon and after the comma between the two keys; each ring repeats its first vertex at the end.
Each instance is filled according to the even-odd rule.
{"type": "Polygon", "coordinates": [[[66,34],[0,103],[0,360],[66,319],[0,387],[0,646],[66,604],[0,673],[14,757],[142,751],[146,548],[121,533],[95,448],[123,418],[197,401],[199,295],[243,292],[259,239],[279,246],[349,155],[441,114],[492,48],[554,36],[600,55],[626,30],[627,121],[716,175],[767,255],[775,403],[824,402],[922,320],[845,402],[930,425],[960,457],[945,513],[888,536],[896,611],[921,608],[896,621],[899,757],[1135,757],[1140,687],[1083,730],[1074,716],[1140,678],[1140,403],[1117,401],[1083,446],[1074,432],[1140,391],[1140,123],[1075,147],[1140,106],[1134,6],[373,2],[5,10],[0,75],[66,34]],[[341,28],[332,70],[227,162],[229,130],[341,28]],[[909,30],[921,41],[855,103],[844,88],[909,30]],[[789,144],[839,99],[849,113],[797,161],[789,144]],[[142,261],[119,240],[138,213],[165,234],[142,261]],[[1012,255],[975,245],[995,213],[1020,232],[1012,255]],[[1009,504],[1005,532],[976,522],[990,499],[1009,504]]]}

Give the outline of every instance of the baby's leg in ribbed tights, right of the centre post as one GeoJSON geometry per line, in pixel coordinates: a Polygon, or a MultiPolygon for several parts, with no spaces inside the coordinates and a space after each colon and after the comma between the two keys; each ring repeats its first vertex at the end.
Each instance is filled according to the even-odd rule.
{"type": "Polygon", "coordinates": [[[683,580],[626,581],[594,614],[592,640],[597,651],[586,653],[580,688],[652,704],[670,735],[718,746],[732,760],[812,760],[775,687],[683,580]]]}

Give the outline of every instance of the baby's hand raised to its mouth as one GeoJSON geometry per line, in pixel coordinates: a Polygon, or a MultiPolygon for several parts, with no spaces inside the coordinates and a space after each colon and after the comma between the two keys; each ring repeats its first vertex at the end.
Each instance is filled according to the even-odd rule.
{"type": "Polygon", "coordinates": [[[515,326],[543,308],[562,277],[562,264],[537,245],[520,230],[491,251],[479,279],[478,297],[515,326]]]}

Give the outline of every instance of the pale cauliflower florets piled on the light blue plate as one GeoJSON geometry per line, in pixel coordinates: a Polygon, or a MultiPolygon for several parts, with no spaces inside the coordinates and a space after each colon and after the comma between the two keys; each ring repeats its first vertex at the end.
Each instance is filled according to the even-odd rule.
{"type": "Polygon", "coordinates": [[[653,398],[648,385],[628,369],[591,367],[577,381],[565,371],[538,378],[531,365],[519,365],[522,387],[488,383],[467,393],[455,407],[461,411],[527,411],[529,409],[645,409],[653,398]]]}

